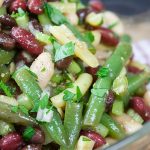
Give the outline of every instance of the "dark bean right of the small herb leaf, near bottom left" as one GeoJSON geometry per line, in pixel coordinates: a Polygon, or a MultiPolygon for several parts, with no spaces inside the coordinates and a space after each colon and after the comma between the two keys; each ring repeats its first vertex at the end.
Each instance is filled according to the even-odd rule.
{"type": "Polygon", "coordinates": [[[33,144],[43,144],[45,141],[44,132],[40,128],[35,128],[35,134],[30,140],[33,144]]]}

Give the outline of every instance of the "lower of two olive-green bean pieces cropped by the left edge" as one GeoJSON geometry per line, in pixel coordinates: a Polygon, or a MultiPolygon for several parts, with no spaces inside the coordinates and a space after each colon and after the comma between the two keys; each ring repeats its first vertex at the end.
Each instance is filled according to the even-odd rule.
{"type": "Polygon", "coordinates": [[[10,78],[10,70],[6,65],[0,65],[0,80],[7,82],[10,78]]]}

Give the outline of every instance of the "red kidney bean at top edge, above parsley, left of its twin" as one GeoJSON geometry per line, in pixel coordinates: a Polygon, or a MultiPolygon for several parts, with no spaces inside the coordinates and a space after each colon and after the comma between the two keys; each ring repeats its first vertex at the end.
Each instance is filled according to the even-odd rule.
{"type": "Polygon", "coordinates": [[[9,7],[9,11],[17,12],[18,8],[26,10],[27,9],[26,0],[14,0],[9,7]]]}

